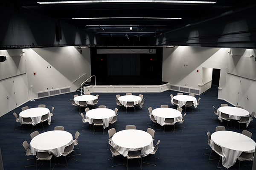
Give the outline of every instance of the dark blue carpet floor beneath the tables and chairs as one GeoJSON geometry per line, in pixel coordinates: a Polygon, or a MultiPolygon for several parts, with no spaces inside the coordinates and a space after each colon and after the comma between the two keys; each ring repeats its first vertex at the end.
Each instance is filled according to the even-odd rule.
{"type": "MultiPolygon", "coordinates": [[[[28,143],[31,140],[31,130],[15,130],[15,118],[13,113],[19,114],[21,108],[29,106],[29,108],[38,107],[39,104],[45,104],[47,108],[55,107],[54,115],[56,120],[51,127],[45,127],[45,131],[53,130],[55,126],[64,126],[65,130],[75,135],[79,131],[79,145],[81,155],[78,156],[78,161],[68,159],[70,170],[88,169],[88,170],[126,170],[125,165],[111,167],[111,160],[108,160],[107,140],[108,132],[105,130],[102,135],[102,130],[96,130],[93,135],[92,131],[81,131],[81,115],[79,112],[70,111],[73,109],[70,99],[73,99],[73,92],[58,96],[51,96],[43,99],[36,99],[32,102],[16,108],[15,110],[0,117],[0,148],[3,158],[3,166],[5,170],[34,170],[34,167],[24,168],[25,149],[22,143],[26,140],[28,143]]],[[[106,105],[107,108],[116,108],[116,93],[98,93],[98,105],[106,105]]],[[[169,105],[170,94],[177,95],[177,91],[165,91],[163,93],[144,93],[145,108],[138,109],[135,114],[133,109],[129,109],[128,113],[120,112],[118,114],[120,128],[116,131],[124,130],[126,125],[136,125],[137,129],[147,130],[148,124],[148,108],[159,108],[160,105],[169,105]]],[[[80,94],[79,94],[80,95],[80,94]]],[[[92,94],[96,95],[96,94],[92,94]]],[[[125,95],[125,93],[120,93],[125,95]]],[[[139,95],[134,93],[134,95],[139,95]]],[[[187,95],[187,94],[184,94],[187,95]]],[[[172,127],[166,128],[166,133],[163,130],[156,130],[154,139],[160,140],[159,151],[160,159],[157,160],[157,166],[143,164],[145,170],[216,170],[218,160],[208,160],[208,156],[204,155],[204,148],[207,144],[207,132],[213,133],[218,122],[213,122],[211,119],[213,107],[220,107],[221,103],[227,103],[223,100],[218,100],[218,89],[212,87],[209,91],[201,96],[195,96],[197,99],[201,97],[200,111],[194,113],[187,112],[185,117],[186,128],[184,131],[172,132],[172,127]]],[[[230,104],[229,104],[230,105],[230,104]]],[[[226,125],[226,124],[224,124],[226,125]]],[[[157,128],[155,128],[157,129],[157,128]]],[[[237,131],[234,128],[228,130],[237,131]]],[[[44,131],[38,130],[39,133],[44,131]]],[[[255,129],[250,129],[253,133],[252,139],[256,140],[255,129]]],[[[64,160],[63,157],[61,160],[64,160]]],[[[119,161],[119,159],[116,159],[119,161]]],[[[122,160],[120,160],[122,161],[122,160]]],[[[153,160],[154,161],[154,160],[153,160]]],[[[35,160],[28,161],[28,164],[35,164],[35,160]]],[[[63,162],[64,163],[64,162],[63,162]]],[[[117,162],[118,163],[118,162],[117,162]]],[[[236,162],[234,167],[239,168],[239,162],[236,162]]],[[[49,169],[49,162],[41,167],[41,169],[49,169]]],[[[67,169],[61,165],[56,165],[55,170],[67,169]]],[[[130,170],[139,170],[139,164],[135,161],[129,162],[130,170]]],[[[241,169],[246,169],[242,166],[241,169]]]]}

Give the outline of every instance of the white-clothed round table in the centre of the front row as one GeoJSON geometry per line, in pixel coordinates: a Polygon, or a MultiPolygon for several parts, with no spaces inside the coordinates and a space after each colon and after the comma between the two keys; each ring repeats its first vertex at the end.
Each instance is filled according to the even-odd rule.
{"type": "Polygon", "coordinates": [[[147,156],[154,150],[152,136],[136,129],[121,130],[112,136],[111,145],[122,154],[127,156],[129,150],[141,149],[141,156],[147,156]]]}

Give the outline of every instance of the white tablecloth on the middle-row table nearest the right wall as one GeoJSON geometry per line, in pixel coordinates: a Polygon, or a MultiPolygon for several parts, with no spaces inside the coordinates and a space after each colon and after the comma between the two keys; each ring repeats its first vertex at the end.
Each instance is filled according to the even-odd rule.
{"type": "MultiPolygon", "coordinates": [[[[226,113],[229,115],[230,119],[240,120],[241,117],[249,117],[250,113],[242,108],[237,108],[233,106],[223,106],[218,108],[217,113],[219,115],[218,119],[222,122],[221,113],[226,113]]],[[[247,122],[246,126],[250,124],[250,119],[247,122]]]]}

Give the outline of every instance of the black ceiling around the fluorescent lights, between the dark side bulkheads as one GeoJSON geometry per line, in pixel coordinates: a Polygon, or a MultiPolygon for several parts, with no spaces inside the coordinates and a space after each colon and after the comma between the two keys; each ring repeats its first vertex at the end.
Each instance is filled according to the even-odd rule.
{"type": "MultiPolygon", "coordinates": [[[[102,37],[153,37],[189,23],[205,20],[255,0],[215,0],[216,3],[69,3],[39,4],[45,0],[1,0],[19,11],[50,17],[102,37]],[[182,19],[89,19],[82,17],[172,17],[182,19]],[[93,26],[92,26],[93,25],[93,26]],[[119,26],[102,26],[119,25],[119,26]],[[120,26],[121,25],[121,26],[120,26]],[[122,26],[126,25],[126,26],[122,26]],[[132,30],[130,26],[133,25],[132,30]]],[[[47,0],[49,1],[49,0],[47,0]]],[[[59,0],[50,0],[59,1],[59,0]]],[[[198,0],[202,1],[202,0],[198,0]]],[[[214,1],[214,0],[204,0],[214,1]]]]}

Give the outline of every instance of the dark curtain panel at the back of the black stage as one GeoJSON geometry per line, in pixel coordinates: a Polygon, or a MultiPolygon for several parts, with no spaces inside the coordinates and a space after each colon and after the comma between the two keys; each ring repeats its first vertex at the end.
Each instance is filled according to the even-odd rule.
{"type": "Polygon", "coordinates": [[[140,76],[140,54],[108,54],[108,76],[140,76]]]}

